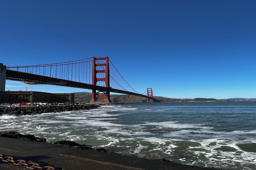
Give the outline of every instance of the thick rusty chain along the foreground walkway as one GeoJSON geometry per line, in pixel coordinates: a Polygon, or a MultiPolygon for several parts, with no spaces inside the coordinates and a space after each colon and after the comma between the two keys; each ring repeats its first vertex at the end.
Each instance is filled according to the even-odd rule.
{"type": "Polygon", "coordinates": [[[28,161],[19,159],[15,160],[12,156],[4,156],[4,154],[0,153],[0,159],[2,159],[3,162],[13,162],[16,166],[26,166],[27,169],[42,169],[42,170],[56,170],[53,166],[45,166],[42,167],[39,163],[28,163],[28,161]]]}

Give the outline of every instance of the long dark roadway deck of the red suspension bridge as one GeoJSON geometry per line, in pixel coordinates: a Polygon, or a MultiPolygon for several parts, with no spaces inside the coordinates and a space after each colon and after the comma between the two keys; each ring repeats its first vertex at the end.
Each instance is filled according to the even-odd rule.
{"type": "Polygon", "coordinates": [[[64,79],[42,76],[42,75],[31,74],[31,73],[20,72],[20,71],[14,71],[9,69],[6,70],[6,79],[13,80],[13,81],[29,82],[31,84],[51,84],[51,85],[57,85],[57,86],[75,87],[75,88],[91,89],[91,90],[109,89],[110,92],[114,92],[114,93],[129,94],[129,95],[154,99],[152,97],[149,97],[143,94],[133,93],[125,90],[113,89],[111,87],[96,86],[96,85],[87,84],[87,83],[64,80],[64,79]]]}

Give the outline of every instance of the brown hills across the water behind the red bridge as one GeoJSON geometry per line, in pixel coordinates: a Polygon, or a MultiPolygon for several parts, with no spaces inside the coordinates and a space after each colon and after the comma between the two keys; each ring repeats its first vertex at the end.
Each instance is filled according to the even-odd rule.
{"type": "MultiPolygon", "coordinates": [[[[90,103],[92,94],[88,92],[76,92],[75,102],[90,103]]],[[[213,98],[195,98],[195,99],[175,99],[155,96],[157,99],[154,102],[198,102],[198,101],[229,101],[227,99],[213,99],[213,98]]],[[[132,95],[110,95],[110,100],[113,103],[131,103],[131,102],[147,102],[147,98],[132,95]]]]}

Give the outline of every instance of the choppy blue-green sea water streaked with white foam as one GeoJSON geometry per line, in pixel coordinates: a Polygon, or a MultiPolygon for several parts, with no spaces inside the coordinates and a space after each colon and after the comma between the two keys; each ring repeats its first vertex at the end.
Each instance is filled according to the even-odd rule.
{"type": "Polygon", "coordinates": [[[188,165],[256,169],[256,102],[110,104],[95,110],[3,115],[0,130],[188,165]]]}

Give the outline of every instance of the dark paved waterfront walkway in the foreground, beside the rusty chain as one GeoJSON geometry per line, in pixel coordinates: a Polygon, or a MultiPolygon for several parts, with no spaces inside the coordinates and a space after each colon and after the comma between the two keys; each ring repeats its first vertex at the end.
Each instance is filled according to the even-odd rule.
{"type": "MultiPolygon", "coordinates": [[[[53,166],[57,170],[213,170],[167,161],[107,153],[92,149],[79,149],[45,142],[0,137],[0,153],[39,163],[41,167],[53,166]]],[[[0,159],[1,170],[25,170],[0,159]]],[[[47,169],[47,168],[46,168],[47,169]]],[[[46,170],[45,169],[45,170],[46,170]]]]}

